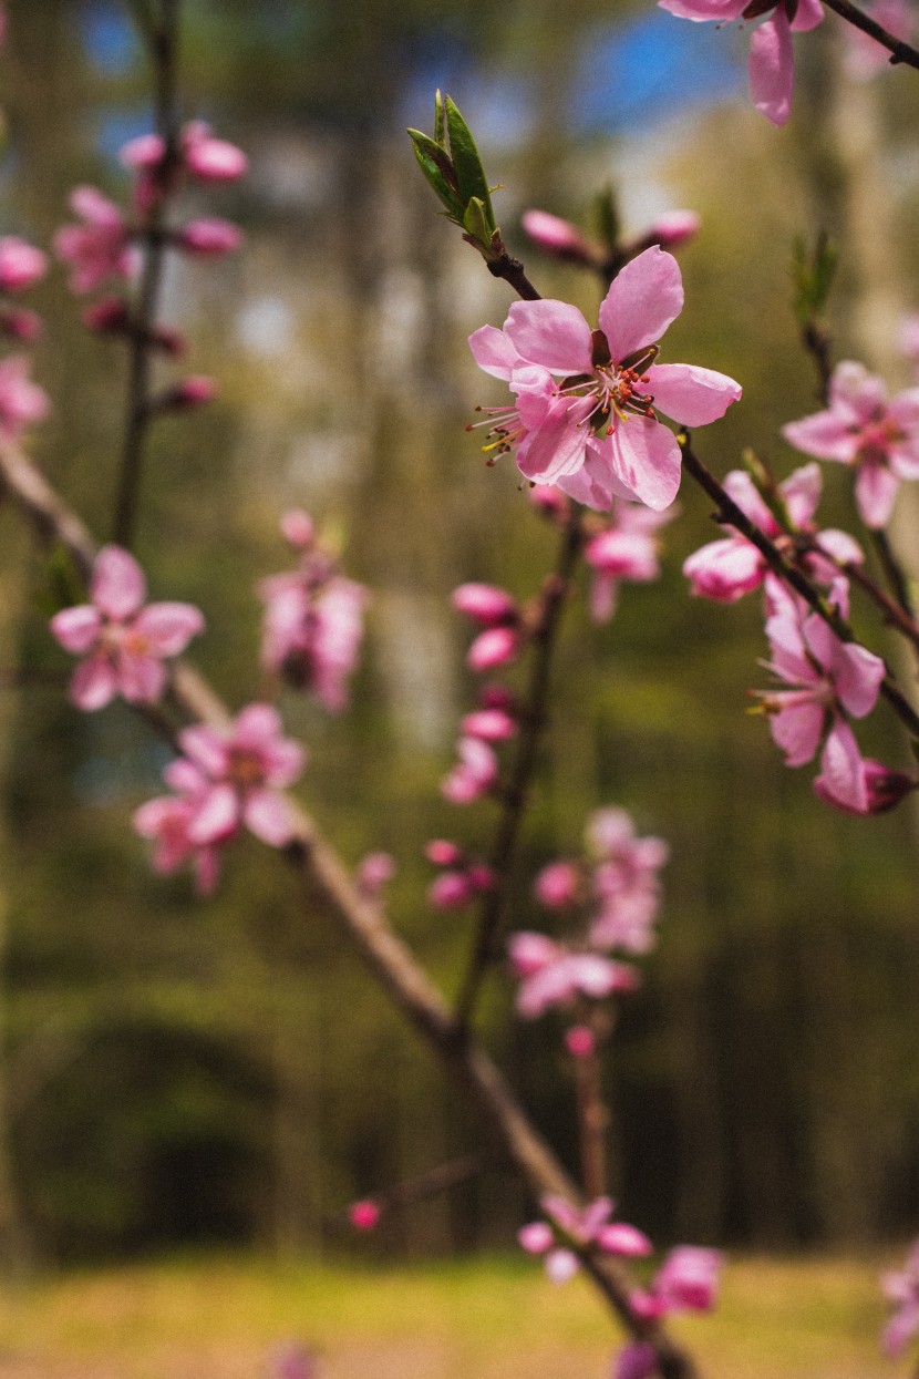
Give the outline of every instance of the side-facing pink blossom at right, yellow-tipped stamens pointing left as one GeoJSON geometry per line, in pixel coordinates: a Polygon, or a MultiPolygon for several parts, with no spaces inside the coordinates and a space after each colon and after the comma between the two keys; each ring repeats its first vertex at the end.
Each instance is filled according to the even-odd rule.
{"type": "Polygon", "coordinates": [[[885,665],[865,647],[840,641],[824,619],[777,581],[767,582],[767,669],[789,690],[758,691],[785,764],[810,761],[823,742],[823,781],[836,801],[867,809],[864,763],[847,717],[874,709],[885,665]]]}

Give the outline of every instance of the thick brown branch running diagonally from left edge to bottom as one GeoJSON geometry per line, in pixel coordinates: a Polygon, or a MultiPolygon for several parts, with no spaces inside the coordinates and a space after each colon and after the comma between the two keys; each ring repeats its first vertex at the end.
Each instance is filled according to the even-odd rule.
{"type": "MultiPolygon", "coordinates": [[[[85,579],[96,546],[90,532],[54,492],[22,451],[0,443],[0,490],[32,521],[43,541],[59,542],[85,579]]],[[[169,701],[183,717],[225,729],[230,713],[207,681],[179,662],[172,672],[169,701]]],[[[171,732],[164,724],[165,735],[171,732]]],[[[413,953],[386,916],[354,884],[347,867],[314,821],[291,801],[293,840],[284,848],[299,872],[310,903],[317,900],[347,934],[364,964],[391,1004],[437,1054],[452,1080],[468,1096],[492,1138],[535,1197],[557,1193],[581,1208],[583,1201],[550,1146],[533,1127],[500,1069],[473,1043],[413,953]]],[[[632,1314],[630,1277],[623,1265],[595,1249],[584,1251],[584,1267],[628,1331],[646,1339],[657,1356],[661,1379],[696,1379],[690,1357],[656,1322],[632,1314]]]]}

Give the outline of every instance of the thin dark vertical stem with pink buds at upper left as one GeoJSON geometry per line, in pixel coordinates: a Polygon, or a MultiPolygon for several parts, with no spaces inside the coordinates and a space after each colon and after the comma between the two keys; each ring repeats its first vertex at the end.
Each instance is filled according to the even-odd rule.
{"type": "Polygon", "coordinates": [[[167,250],[164,201],[169,175],[178,159],[179,138],[176,91],[179,3],[180,0],[160,0],[158,22],[146,34],[156,85],[156,132],[163,138],[165,153],[156,171],[156,193],[141,232],[143,270],[131,331],[128,403],[113,528],[113,541],[125,550],[134,543],[147,429],[153,415],[152,342],[167,250]]]}

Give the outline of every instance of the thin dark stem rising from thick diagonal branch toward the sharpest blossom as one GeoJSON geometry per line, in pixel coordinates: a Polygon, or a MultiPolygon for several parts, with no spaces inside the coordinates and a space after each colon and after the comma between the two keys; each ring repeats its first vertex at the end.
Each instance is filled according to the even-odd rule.
{"type": "Polygon", "coordinates": [[[511,872],[517,840],[529,798],[529,787],[536,769],[539,746],[546,727],[546,705],[553,655],[561,627],[561,616],[572,589],[575,571],[583,546],[580,513],[572,507],[562,527],[555,571],[543,587],[536,627],[533,632],[533,661],[530,678],[521,713],[521,732],[507,787],[502,792],[502,816],[488,858],[495,885],[482,896],[478,931],[466,976],[456,1003],[460,1025],[467,1025],[485,975],[499,957],[499,936],[510,895],[511,872]]]}

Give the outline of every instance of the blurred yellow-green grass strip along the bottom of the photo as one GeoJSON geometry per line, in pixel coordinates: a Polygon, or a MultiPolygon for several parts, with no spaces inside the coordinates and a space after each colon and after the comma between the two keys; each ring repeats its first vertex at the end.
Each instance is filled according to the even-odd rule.
{"type": "MultiPolygon", "coordinates": [[[[880,1358],[876,1263],[747,1259],[681,1335],[705,1379],[901,1379],[880,1358]]],[[[298,1339],[320,1379],[606,1379],[590,1285],[529,1260],[379,1271],[204,1259],[92,1270],[0,1302],[1,1379],[269,1379],[298,1339]]]]}

